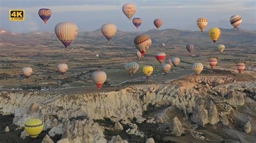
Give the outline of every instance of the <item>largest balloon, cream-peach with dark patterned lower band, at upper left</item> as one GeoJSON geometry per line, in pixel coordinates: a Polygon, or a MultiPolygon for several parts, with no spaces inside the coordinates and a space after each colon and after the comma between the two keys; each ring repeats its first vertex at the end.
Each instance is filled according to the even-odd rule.
{"type": "Polygon", "coordinates": [[[78,28],[75,23],[62,22],[55,26],[55,34],[66,47],[67,51],[72,41],[76,39],[77,33],[78,28]]]}

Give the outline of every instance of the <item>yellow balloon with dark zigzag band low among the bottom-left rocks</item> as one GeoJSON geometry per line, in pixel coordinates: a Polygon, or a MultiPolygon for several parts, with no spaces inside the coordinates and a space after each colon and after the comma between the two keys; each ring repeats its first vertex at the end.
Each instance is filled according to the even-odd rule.
{"type": "Polygon", "coordinates": [[[39,119],[30,119],[26,121],[24,127],[26,133],[32,138],[36,138],[44,129],[43,121],[39,119]]]}

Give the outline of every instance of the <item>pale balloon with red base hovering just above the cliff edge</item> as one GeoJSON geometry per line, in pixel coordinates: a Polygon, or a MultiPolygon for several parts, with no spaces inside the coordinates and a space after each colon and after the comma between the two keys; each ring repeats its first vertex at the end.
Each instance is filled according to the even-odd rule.
{"type": "Polygon", "coordinates": [[[93,82],[95,82],[98,89],[102,88],[104,82],[106,81],[106,78],[107,78],[107,76],[104,71],[98,70],[98,71],[94,71],[92,73],[92,80],[93,80],[93,82]]]}

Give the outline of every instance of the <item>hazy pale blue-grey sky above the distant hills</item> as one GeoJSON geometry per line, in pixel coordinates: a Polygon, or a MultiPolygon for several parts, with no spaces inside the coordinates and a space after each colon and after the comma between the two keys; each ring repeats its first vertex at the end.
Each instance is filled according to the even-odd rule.
{"type": "Polygon", "coordinates": [[[137,5],[133,16],[143,19],[140,31],[154,28],[153,20],[164,20],[161,29],[177,28],[199,30],[197,18],[208,19],[208,26],[232,28],[229,19],[233,15],[242,17],[241,28],[256,30],[255,0],[0,0],[0,28],[12,32],[54,31],[59,22],[74,22],[79,31],[93,31],[104,23],[116,24],[118,30],[136,31],[131,21],[122,12],[124,3],[137,5]],[[38,16],[38,10],[49,8],[52,16],[48,24],[38,16]],[[24,22],[10,22],[10,9],[24,9],[24,22]]]}

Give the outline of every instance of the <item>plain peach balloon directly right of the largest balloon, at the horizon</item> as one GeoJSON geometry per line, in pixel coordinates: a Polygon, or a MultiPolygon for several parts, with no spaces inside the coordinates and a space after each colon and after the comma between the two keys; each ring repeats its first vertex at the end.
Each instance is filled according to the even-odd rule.
{"type": "Polygon", "coordinates": [[[117,33],[117,26],[109,23],[102,25],[102,34],[110,41],[117,33]]]}

